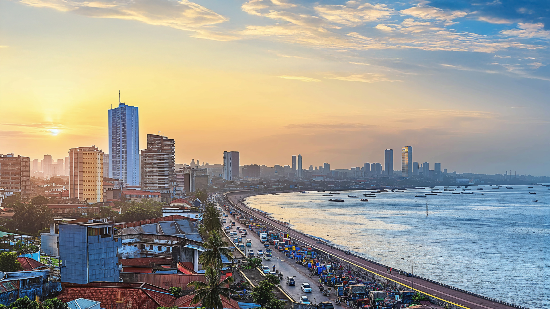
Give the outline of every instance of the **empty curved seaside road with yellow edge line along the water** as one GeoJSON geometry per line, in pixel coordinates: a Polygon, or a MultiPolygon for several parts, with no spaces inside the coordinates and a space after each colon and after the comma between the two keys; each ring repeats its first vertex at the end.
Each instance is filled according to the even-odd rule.
{"type": "MultiPolygon", "coordinates": [[[[411,277],[404,277],[403,275],[399,275],[397,273],[389,274],[386,272],[385,267],[378,266],[374,263],[370,263],[358,257],[343,255],[342,251],[337,251],[333,249],[330,245],[316,244],[315,239],[309,238],[308,236],[304,236],[298,231],[290,229],[288,225],[282,222],[279,222],[277,220],[273,220],[272,218],[268,218],[265,216],[265,213],[256,211],[256,209],[250,208],[244,205],[244,203],[240,202],[241,199],[250,195],[251,195],[250,192],[243,192],[243,194],[226,195],[226,197],[228,197],[229,201],[232,202],[236,207],[240,208],[241,211],[249,212],[254,217],[265,221],[266,223],[272,225],[272,227],[276,229],[279,229],[282,231],[286,231],[288,229],[290,236],[294,239],[298,239],[300,241],[306,242],[307,244],[312,245],[316,249],[324,251],[333,256],[337,255],[339,260],[364,268],[368,272],[375,273],[380,277],[408,286],[409,288],[412,287],[411,277]]],[[[419,278],[414,279],[414,290],[423,294],[430,295],[432,297],[436,297],[438,299],[441,299],[443,301],[449,302],[451,304],[454,304],[456,306],[466,308],[466,309],[501,309],[501,308],[510,309],[512,308],[511,306],[500,304],[499,302],[482,299],[481,297],[477,297],[461,291],[453,290],[445,286],[428,282],[426,280],[422,280],[419,278]]]]}

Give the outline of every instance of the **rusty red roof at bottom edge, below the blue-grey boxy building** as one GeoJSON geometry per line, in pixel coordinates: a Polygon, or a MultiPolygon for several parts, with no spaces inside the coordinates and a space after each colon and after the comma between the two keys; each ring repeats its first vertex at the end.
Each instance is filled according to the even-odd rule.
{"type": "Polygon", "coordinates": [[[169,290],[141,282],[69,283],[64,286],[63,294],[57,298],[63,302],[78,298],[100,301],[102,308],[141,309],[171,307],[175,301],[169,290]]]}

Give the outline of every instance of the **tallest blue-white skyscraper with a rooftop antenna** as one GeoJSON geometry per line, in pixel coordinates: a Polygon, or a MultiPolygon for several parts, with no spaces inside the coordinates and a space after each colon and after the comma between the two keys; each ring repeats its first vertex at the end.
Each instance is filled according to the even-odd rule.
{"type": "Polygon", "coordinates": [[[120,103],[109,109],[109,176],[125,184],[140,183],[139,113],[138,107],[120,103]]]}

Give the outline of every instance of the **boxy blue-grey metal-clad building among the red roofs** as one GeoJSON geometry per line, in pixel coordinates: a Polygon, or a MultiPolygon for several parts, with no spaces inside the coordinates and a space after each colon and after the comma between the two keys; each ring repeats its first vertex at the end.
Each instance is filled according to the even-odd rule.
{"type": "Polygon", "coordinates": [[[114,237],[112,227],[103,222],[59,224],[62,282],[120,281],[122,240],[114,237]]]}

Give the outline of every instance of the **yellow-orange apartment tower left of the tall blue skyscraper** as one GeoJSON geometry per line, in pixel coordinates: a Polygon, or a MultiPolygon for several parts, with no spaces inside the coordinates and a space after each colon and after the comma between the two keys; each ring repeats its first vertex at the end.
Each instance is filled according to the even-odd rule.
{"type": "Polygon", "coordinates": [[[103,201],[103,151],[96,146],[70,148],[69,197],[103,201]]]}

